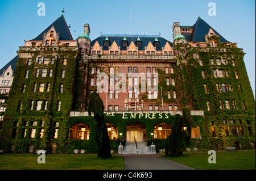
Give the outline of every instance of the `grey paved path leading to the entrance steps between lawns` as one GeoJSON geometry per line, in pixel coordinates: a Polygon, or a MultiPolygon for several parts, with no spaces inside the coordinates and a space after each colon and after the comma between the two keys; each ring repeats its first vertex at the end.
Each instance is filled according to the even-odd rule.
{"type": "Polygon", "coordinates": [[[126,154],[122,156],[126,170],[196,170],[163,158],[160,154],[126,154]]]}

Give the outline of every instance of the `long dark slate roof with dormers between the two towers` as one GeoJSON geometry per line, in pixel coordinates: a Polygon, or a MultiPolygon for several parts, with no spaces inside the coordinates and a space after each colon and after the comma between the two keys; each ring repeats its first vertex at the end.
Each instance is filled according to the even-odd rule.
{"type": "MultiPolygon", "coordinates": [[[[102,46],[103,50],[108,50],[109,47],[104,47],[104,40],[106,39],[106,37],[107,36],[97,37],[97,39],[94,39],[92,41],[91,46],[93,46],[96,43],[96,41],[98,41],[100,46],[102,46]]],[[[115,43],[117,43],[118,47],[120,47],[121,50],[126,50],[127,48],[122,46],[123,38],[124,38],[124,36],[108,36],[108,39],[110,41],[109,46],[111,46],[113,44],[113,42],[115,41],[115,43]]],[[[136,41],[137,41],[138,37],[126,36],[125,38],[128,41],[128,47],[129,47],[131,41],[133,41],[133,43],[136,45],[136,41]]],[[[139,50],[144,50],[144,47],[147,47],[147,45],[150,41],[154,45],[155,38],[157,38],[159,41],[159,47],[156,47],[156,50],[162,50],[162,47],[164,47],[164,45],[166,45],[166,42],[168,42],[171,45],[171,47],[173,46],[171,41],[168,41],[162,37],[139,37],[139,39],[141,39],[141,41],[142,41],[142,46],[139,47],[139,50]]]]}

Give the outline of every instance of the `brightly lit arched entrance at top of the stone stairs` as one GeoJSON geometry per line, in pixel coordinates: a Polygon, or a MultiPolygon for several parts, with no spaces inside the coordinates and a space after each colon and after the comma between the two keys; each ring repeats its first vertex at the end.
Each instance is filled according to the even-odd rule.
{"type": "Polygon", "coordinates": [[[126,126],[127,141],[143,141],[146,139],[146,127],[144,125],[133,123],[126,126]]]}

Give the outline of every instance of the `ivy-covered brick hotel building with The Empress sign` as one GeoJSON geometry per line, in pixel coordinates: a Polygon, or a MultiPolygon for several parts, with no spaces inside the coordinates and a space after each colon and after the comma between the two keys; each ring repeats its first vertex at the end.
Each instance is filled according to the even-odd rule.
{"type": "Polygon", "coordinates": [[[114,152],[124,138],[150,144],[151,133],[156,151],[164,149],[183,108],[196,124],[187,145],[192,151],[255,149],[255,99],[245,53],[203,19],[194,26],[174,23],[173,43],[160,36],[102,35],[91,41],[89,32],[85,24],[73,40],[61,16],[19,47],[1,128],[5,153],[96,153],[95,121],[87,111],[93,91],[104,102],[114,152]],[[108,78],[105,91],[97,87],[99,73],[108,78]],[[113,88],[119,73],[125,75],[125,92],[113,88]],[[146,77],[137,79],[137,73],[146,77]]]}

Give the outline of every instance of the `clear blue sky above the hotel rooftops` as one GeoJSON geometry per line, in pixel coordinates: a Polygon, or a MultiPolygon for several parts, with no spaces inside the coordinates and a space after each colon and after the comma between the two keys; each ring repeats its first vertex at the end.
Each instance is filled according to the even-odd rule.
{"type": "Polygon", "coordinates": [[[102,33],[159,35],[172,39],[172,24],[193,26],[198,16],[226,40],[243,48],[245,65],[255,96],[255,1],[254,0],[26,0],[0,1],[0,69],[16,56],[24,40],[38,36],[65,10],[73,39],[90,25],[90,39],[102,33]],[[38,16],[39,2],[46,5],[46,16],[38,16]],[[209,16],[209,2],[216,4],[216,16],[209,16]]]}

